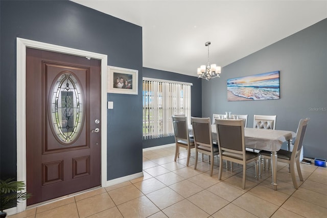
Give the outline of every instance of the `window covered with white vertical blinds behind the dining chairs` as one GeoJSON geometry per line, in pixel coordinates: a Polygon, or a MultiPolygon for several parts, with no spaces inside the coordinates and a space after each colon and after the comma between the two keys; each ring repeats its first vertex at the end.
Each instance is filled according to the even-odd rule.
{"type": "Polygon", "coordinates": [[[172,116],[191,119],[192,83],[143,78],[143,139],[173,136],[172,116]]]}

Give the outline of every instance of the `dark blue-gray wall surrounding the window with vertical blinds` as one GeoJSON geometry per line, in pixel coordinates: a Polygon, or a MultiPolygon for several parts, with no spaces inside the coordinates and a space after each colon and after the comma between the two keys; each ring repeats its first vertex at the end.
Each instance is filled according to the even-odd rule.
{"type": "MultiPolygon", "coordinates": [[[[202,116],[202,81],[194,76],[187,76],[183,74],[154,70],[151,68],[143,68],[143,77],[155,78],[155,79],[166,79],[181,82],[193,83],[191,86],[191,116],[201,117],[202,116]]],[[[157,139],[143,140],[143,148],[165,145],[175,143],[175,137],[162,137],[157,139]]]]}

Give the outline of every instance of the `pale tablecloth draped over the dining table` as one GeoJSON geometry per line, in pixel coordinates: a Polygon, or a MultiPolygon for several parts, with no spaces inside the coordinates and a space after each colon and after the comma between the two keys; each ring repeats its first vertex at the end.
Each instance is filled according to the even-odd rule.
{"type": "MultiPolygon", "coordinates": [[[[192,125],[189,125],[192,133],[192,125]]],[[[216,125],[211,126],[213,140],[217,140],[216,125]]],[[[288,141],[296,136],[296,133],[286,130],[244,128],[245,146],[258,150],[278,151],[281,149],[283,142],[288,141]]]]}

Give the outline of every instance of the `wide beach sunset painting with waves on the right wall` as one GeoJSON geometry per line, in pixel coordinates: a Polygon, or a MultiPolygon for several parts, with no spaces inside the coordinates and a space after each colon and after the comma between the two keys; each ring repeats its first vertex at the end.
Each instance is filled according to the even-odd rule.
{"type": "Polygon", "coordinates": [[[227,100],[279,99],[279,71],[227,79],[227,100]]]}

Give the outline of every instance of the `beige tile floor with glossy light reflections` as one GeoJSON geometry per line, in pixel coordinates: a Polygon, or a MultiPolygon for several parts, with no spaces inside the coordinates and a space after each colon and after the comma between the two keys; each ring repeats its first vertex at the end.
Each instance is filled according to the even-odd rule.
{"type": "Polygon", "coordinates": [[[143,152],[144,177],[74,197],[32,207],[10,217],[326,217],[327,168],[301,164],[305,181],[294,189],[288,166],[278,163],[278,187],[271,186],[271,172],[254,179],[253,163],[241,188],[242,168],[234,165],[218,180],[219,158],[214,174],[209,163],[195,152],[186,167],[186,150],[174,162],[175,146],[143,152]]]}

